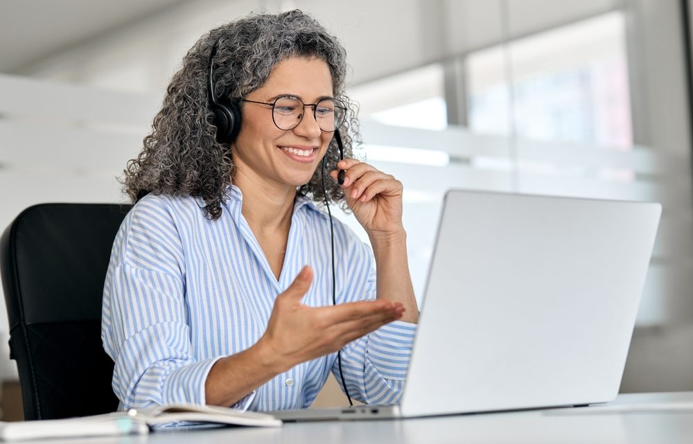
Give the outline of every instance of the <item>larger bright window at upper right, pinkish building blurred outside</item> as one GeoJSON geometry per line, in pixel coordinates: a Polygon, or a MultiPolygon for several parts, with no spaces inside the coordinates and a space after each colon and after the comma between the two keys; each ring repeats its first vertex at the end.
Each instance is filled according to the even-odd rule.
{"type": "Polygon", "coordinates": [[[473,51],[466,80],[474,132],[622,149],[633,143],[620,11],[473,51]]]}

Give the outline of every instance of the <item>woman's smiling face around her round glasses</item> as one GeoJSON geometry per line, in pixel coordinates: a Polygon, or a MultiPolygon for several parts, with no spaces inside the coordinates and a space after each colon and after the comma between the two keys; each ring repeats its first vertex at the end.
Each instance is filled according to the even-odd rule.
{"type": "MultiPolygon", "coordinates": [[[[332,97],[327,64],[315,58],[290,57],[274,66],[265,85],[245,99],[272,103],[285,95],[304,103],[332,97]]],[[[245,102],[241,113],[240,132],[232,151],[236,174],[280,186],[308,183],[333,137],[333,133],[320,130],[313,107],[306,107],[301,123],[288,131],[274,125],[271,106],[245,102]]]]}

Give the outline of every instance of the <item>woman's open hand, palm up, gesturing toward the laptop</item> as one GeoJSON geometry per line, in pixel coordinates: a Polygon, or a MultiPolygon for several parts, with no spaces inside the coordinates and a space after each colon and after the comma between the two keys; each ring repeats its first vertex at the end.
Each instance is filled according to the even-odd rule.
{"type": "Polygon", "coordinates": [[[301,362],[334,353],[349,342],[402,317],[401,303],[371,300],[335,306],[309,307],[301,303],[313,282],[313,269],[304,267],[274,301],[265,334],[258,341],[265,362],[277,373],[301,362]]]}

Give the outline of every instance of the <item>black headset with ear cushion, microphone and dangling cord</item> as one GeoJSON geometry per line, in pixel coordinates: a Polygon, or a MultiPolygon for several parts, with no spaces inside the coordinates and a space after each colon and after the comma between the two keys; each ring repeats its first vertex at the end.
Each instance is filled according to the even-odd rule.
{"type": "MultiPolygon", "coordinates": [[[[233,103],[228,98],[218,98],[214,94],[214,56],[217,53],[219,42],[217,41],[212,47],[211,53],[209,54],[209,82],[207,83],[207,93],[209,95],[209,107],[214,113],[213,124],[217,127],[216,140],[218,143],[232,143],[236,140],[238,132],[240,131],[240,109],[236,103],[233,103]]],[[[340,161],[344,160],[344,144],[342,143],[342,136],[340,131],[335,129],[335,141],[337,141],[337,150],[340,152],[340,161]]],[[[330,211],[330,202],[327,195],[325,187],[325,170],[326,170],[326,158],[327,154],[322,158],[322,166],[320,168],[320,179],[322,181],[322,195],[325,199],[325,206],[327,207],[327,213],[330,218],[330,247],[332,249],[332,303],[337,305],[337,290],[335,282],[335,229],[332,220],[332,211],[330,211]]],[[[344,185],[344,170],[339,170],[337,172],[337,183],[344,185]]],[[[347,395],[349,400],[349,405],[353,406],[351,401],[351,396],[349,396],[349,389],[347,389],[347,382],[344,381],[344,373],[342,372],[342,350],[337,350],[337,364],[340,368],[340,379],[342,380],[342,387],[344,388],[344,393],[347,395]]]]}

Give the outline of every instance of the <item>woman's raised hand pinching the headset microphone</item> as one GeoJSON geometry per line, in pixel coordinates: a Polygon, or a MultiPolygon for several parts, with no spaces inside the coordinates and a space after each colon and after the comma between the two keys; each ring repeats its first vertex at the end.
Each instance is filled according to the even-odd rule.
{"type": "MultiPolygon", "coordinates": [[[[401,181],[356,159],[344,159],[337,163],[337,168],[346,171],[342,188],[347,205],[369,237],[404,231],[401,181]]],[[[330,175],[337,180],[337,170],[330,175]]]]}

